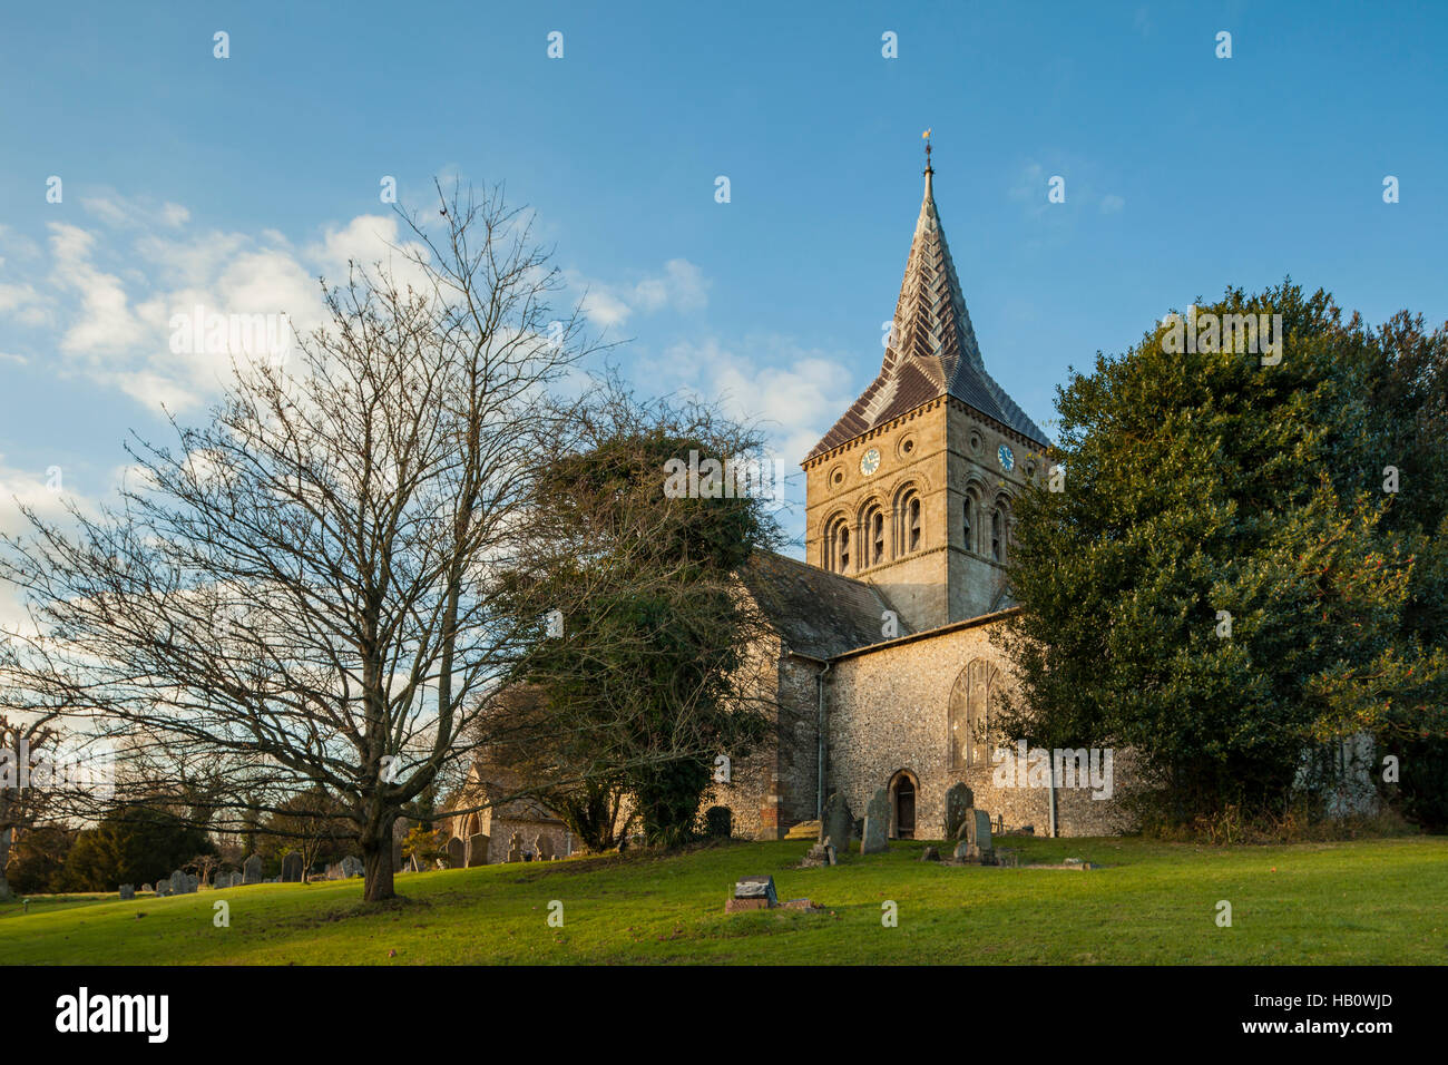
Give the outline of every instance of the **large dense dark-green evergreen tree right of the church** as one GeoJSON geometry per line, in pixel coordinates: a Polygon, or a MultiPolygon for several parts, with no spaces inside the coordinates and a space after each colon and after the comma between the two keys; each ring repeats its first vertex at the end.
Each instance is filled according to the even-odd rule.
{"type": "Polygon", "coordinates": [[[1061,475],[1016,506],[1001,730],[1132,748],[1171,820],[1280,809],[1318,742],[1445,735],[1444,481],[1396,420],[1418,393],[1442,417],[1444,335],[1344,323],[1290,281],[1196,320],[1244,314],[1280,314],[1281,346],[1183,345],[1169,316],[1073,372],[1061,475]],[[1426,474],[1410,516],[1394,459],[1426,474]]]}

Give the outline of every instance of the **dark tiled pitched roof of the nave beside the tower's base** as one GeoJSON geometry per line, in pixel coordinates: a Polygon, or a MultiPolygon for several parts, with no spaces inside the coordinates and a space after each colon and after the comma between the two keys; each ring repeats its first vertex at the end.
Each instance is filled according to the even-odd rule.
{"type": "Polygon", "coordinates": [[[738,577],[791,651],[834,658],[885,639],[891,606],[864,581],[772,551],[756,551],[738,577]]]}

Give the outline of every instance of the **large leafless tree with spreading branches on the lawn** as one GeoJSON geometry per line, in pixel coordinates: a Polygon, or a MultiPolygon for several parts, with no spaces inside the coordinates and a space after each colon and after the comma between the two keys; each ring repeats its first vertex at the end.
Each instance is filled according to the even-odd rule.
{"type": "Polygon", "coordinates": [[[397,817],[489,739],[465,726],[534,620],[498,574],[566,414],[546,397],[597,351],[501,190],[437,194],[436,232],[404,216],[388,262],[323,281],[329,322],[290,364],[239,361],[209,425],[127,445],[114,507],[68,529],[26,511],[0,552],[38,626],[0,682],[171,784],[206,767],[185,801],[213,830],[239,829],[242,795],[339,797],[368,900],[394,894],[397,817]]]}

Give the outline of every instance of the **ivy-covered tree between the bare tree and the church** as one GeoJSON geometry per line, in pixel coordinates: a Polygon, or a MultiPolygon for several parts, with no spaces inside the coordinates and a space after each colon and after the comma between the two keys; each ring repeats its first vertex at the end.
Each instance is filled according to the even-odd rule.
{"type": "Polygon", "coordinates": [[[553,604],[517,678],[552,727],[526,729],[518,756],[556,781],[547,801],[588,846],[620,842],[624,795],[644,838],[673,845],[696,832],[717,755],[741,758],[763,727],[746,662],[762,619],[734,574],[778,532],[766,498],[723,484],[724,459],[757,469],[762,442],[617,384],[581,425],[544,461],[543,532],[517,575],[527,601],[553,604]],[[717,478],[681,480],[710,458],[717,478]]]}

